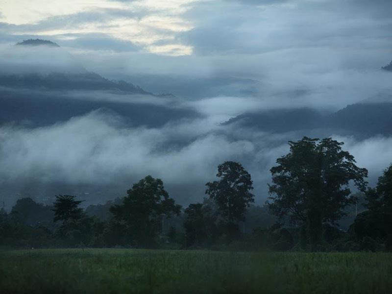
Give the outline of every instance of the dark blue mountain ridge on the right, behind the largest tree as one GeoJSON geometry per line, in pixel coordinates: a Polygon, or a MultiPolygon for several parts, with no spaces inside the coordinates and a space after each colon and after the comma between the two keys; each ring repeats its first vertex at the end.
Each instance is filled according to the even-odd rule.
{"type": "Polygon", "coordinates": [[[355,103],[327,115],[310,108],[265,110],[239,115],[224,124],[234,123],[266,132],[301,131],[313,136],[392,135],[392,102],[355,103]]]}

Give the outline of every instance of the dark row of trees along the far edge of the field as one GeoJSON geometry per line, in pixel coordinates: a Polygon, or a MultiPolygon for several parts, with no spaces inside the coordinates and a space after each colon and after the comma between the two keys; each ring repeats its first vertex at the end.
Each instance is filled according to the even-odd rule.
{"type": "Polygon", "coordinates": [[[150,175],[122,199],[100,206],[105,217],[82,209],[76,196],[58,195],[51,207],[19,199],[9,214],[0,210],[0,246],[391,250],[392,165],[371,188],[368,171],[356,165],[342,142],[304,137],[289,146],[270,169],[268,214],[253,205],[249,172],[226,161],[218,166],[217,179],[206,183],[203,202],[185,209],[150,175]],[[360,197],[364,211],[347,231],[339,229],[360,197]],[[245,231],[249,216],[261,221],[245,231]],[[172,225],[165,229],[165,222],[172,225]]]}

